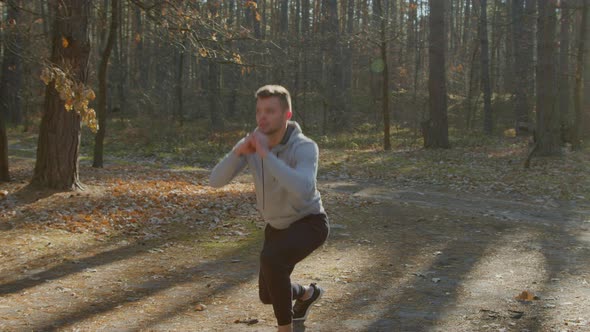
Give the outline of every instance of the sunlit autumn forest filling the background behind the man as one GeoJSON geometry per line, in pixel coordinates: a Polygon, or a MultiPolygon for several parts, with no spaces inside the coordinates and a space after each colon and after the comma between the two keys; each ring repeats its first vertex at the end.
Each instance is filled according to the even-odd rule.
{"type": "MultiPolygon", "coordinates": [[[[185,126],[230,132],[249,125],[252,91],[276,83],[290,89],[294,119],[318,135],[364,126],[381,132],[390,150],[392,130],[412,132],[426,148],[451,147],[449,135],[534,133],[535,154],[556,155],[590,133],[587,7],[580,0],[3,1],[1,127],[39,128],[35,181],[76,187],[77,175],[51,184],[55,170],[43,159],[76,164],[78,121],[95,135],[100,167],[115,118],[172,135],[185,126]],[[50,121],[64,105],[75,112],[50,121]],[[52,130],[71,134],[54,141],[52,130]],[[64,144],[72,149],[53,155],[64,144]]],[[[6,135],[2,129],[3,179],[6,135]]]]}

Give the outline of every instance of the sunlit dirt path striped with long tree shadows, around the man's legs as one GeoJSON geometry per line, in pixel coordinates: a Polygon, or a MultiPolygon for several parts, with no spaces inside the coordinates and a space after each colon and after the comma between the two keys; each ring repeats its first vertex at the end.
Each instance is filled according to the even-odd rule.
{"type": "MultiPolygon", "coordinates": [[[[327,293],[298,331],[590,330],[587,207],[393,188],[321,184],[331,237],[293,279],[327,293]]],[[[5,228],[0,330],[274,331],[257,300],[261,227],[5,228]]]]}

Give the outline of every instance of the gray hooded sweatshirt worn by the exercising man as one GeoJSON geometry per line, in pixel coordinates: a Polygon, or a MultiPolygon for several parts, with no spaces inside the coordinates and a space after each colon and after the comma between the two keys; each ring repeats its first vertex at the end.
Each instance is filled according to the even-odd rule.
{"type": "Polygon", "coordinates": [[[264,159],[257,153],[238,157],[232,149],[213,168],[209,184],[223,187],[248,164],[258,211],[272,227],[285,229],[309,214],[324,213],[316,188],[318,155],[315,142],[303,135],[297,122],[289,121],[285,137],[264,159]]]}

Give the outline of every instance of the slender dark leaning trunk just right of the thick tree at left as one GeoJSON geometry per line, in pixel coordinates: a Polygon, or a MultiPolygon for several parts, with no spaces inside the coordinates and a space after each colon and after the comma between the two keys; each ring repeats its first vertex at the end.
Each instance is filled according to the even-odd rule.
{"type": "MultiPolygon", "coordinates": [[[[105,7],[106,11],[106,7],[105,7]]],[[[94,161],[92,167],[102,168],[103,167],[103,150],[104,150],[104,137],[106,134],[106,122],[107,122],[107,75],[109,58],[111,57],[111,51],[115,44],[115,38],[117,38],[117,27],[119,24],[119,0],[111,0],[111,28],[109,30],[109,37],[102,53],[100,65],[98,69],[98,132],[94,137],[94,161]]]]}

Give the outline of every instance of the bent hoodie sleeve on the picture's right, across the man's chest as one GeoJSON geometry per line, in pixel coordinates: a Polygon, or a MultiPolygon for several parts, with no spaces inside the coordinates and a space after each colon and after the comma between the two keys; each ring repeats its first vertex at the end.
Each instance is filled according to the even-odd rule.
{"type": "Polygon", "coordinates": [[[276,178],[280,186],[301,198],[306,198],[315,192],[319,150],[315,143],[306,142],[299,145],[294,153],[297,163],[294,168],[273,153],[268,153],[264,158],[264,167],[276,178]]]}

